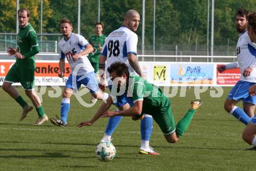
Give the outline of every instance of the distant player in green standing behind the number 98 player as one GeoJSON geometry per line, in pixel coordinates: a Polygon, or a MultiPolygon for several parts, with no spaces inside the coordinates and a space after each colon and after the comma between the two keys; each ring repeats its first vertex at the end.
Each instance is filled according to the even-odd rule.
{"type": "MultiPolygon", "coordinates": [[[[104,45],[106,36],[102,34],[104,24],[102,22],[97,22],[94,24],[95,34],[93,34],[89,43],[93,46],[93,52],[88,55],[88,59],[94,68],[94,73],[96,75],[97,81],[99,82],[99,55],[101,54],[102,46],[104,45]]],[[[91,101],[94,103],[97,101],[94,97],[91,97],[91,101]]]]}

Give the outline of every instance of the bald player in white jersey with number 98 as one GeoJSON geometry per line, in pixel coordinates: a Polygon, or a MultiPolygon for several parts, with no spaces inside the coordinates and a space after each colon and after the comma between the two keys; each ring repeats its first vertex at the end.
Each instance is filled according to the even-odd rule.
{"type": "MultiPolygon", "coordinates": [[[[109,34],[105,39],[105,43],[99,57],[99,68],[105,71],[105,67],[108,68],[112,63],[116,61],[121,61],[129,67],[129,71],[137,73],[139,76],[143,77],[141,68],[138,64],[137,59],[137,42],[138,37],[135,33],[140,22],[140,14],[136,10],[128,10],[125,14],[123,21],[123,26],[118,28],[109,34]],[[105,63],[106,62],[106,63],[105,63]],[[106,65],[106,66],[105,66],[106,65]]],[[[105,75],[103,76],[103,78],[105,75]]],[[[112,89],[112,81],[109,79],[109,73],[106,73],[106,78],[108,79],[109,89],[116,91],[116,88],[112,89]]],[[[103,82],[99,84],[102,90],[105,90],[105,78],[103,82]],[[102,85],[101,85],[102,84],[102,85]]],[[[133,101],[128,100],[125,94],[118,96],[115,101],[118,110],[127,110],[133,105],[133,101]]],[[[106,126],[104,137],[102,141],[110,141],[112,133],[118,126],[122,117],[116,116],[112,117],[108,121],[106,126]]],[[[144,118],[141,118],[141,145],[140,154],[151,154],[158,155],[157,152],[152,150],[149,145],[150,136],[152,133],[152,117],[151,115],[144,114],[144,118]]]]}

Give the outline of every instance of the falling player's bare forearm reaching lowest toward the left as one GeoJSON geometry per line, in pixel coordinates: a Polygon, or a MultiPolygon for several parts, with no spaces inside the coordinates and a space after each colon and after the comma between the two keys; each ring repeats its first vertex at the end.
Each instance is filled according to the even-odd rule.
{"type": "Polygon", "coordinates": [[[95,121],[97,121],[102,116],[102,114],[104,114],[104,112],[109,109],[109,107],[111,107],[112,103],[113,103],[112,97],[109,96],[108,99],[106,100],[106,103],[101,104],[101,107],[99,107],[98,111],[96,112],[96,114],[90,121],[80,122],[79,125],[77,125],[77,126],[79,126],[79,128],[81,128],[82,126],[93,125],[93,123],[95,121]]]}

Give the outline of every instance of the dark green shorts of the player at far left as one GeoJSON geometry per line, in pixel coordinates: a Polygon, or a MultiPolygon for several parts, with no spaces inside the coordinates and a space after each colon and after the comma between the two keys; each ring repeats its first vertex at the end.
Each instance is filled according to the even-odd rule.
{"type": "Polygon", "coordinates": [[[34,89],[34,69],[20,68],[14,64],[5,77],[5,82],[20,82],[24,89],[34,89]]]}

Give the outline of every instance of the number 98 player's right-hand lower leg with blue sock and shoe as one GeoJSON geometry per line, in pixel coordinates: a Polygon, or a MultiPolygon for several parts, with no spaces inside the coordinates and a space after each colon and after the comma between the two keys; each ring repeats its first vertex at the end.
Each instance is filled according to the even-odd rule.
{"type": "Polygon", "coordinates": [[[150,154],[150,155],[159,155],[158,152],[155,152],[150,147],[150,136],[152,133],[152,122],[153,118],[151,115],[144,114],[144,117],[141,119],[140,122],[140,132],[141,132],[141,144],[140,150],[138,151],[139,154],[150,154]]]}

